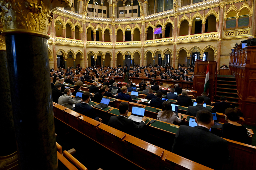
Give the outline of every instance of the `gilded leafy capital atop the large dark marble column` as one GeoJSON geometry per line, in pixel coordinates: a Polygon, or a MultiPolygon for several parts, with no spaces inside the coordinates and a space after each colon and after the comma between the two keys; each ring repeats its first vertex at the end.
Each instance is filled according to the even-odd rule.
{"type": "Polygon", "coordinates": [[[57,7],[70,10],[70,0],[0,0],[0,16],[4,32],[11,29],[41,31],[47,34],[48,23],[52,21],[52,12],[57,7]]]}

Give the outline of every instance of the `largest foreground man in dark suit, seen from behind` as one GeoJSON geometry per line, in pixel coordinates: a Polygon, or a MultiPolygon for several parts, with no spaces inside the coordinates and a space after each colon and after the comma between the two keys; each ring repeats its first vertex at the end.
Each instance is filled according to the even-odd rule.
{"type": "Polygon", "coordinates": [[[195,127],[179,127],[172,152],[209,168],[222,169],[222,163],[229,160],[228,143],[210,132],[209,129],[214,125],[212,113],[200,110],[195,121],[195,127]],[[191,151],[188,148],[194,149],[191,151]]]}

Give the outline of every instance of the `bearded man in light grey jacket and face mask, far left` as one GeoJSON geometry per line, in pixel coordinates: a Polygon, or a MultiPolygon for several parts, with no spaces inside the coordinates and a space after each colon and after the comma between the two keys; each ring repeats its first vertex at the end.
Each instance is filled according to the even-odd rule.
{"type": "Polygon", "coordinates": [[[73,104],[81,103],[81,100],[74,101],[71,97],[72,93],[69,88],[66,88],[64,90],[64,95],[59,97],[58,104],[65,106],[68,109],[73,109],[73,104]]]}

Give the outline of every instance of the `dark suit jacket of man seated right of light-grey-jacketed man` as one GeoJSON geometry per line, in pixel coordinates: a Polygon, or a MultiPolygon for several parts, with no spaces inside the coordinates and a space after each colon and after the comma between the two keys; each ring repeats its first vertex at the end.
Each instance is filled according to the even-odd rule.
{"type": "Polygon", "coordinates": [[[77,103],[74,111],[99,121],[99,117],[95,115],[94,109],[86,103],[77,103]]]}

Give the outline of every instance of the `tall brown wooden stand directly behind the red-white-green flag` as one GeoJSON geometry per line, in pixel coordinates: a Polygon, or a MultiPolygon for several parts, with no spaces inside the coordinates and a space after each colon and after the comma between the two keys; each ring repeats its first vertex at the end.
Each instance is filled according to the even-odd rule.
{"type": "Polygon", "coordinates": [[[207,70],[207,64],[209,62],[209,93],[210,99],[213,100],[214,96],[214,80],[216,73],[216,61],[196,61],[194,72],[193,90],[197,90],[197,96],[201,96],[204,92],[205,75],[207,70]]]}

